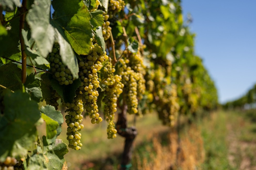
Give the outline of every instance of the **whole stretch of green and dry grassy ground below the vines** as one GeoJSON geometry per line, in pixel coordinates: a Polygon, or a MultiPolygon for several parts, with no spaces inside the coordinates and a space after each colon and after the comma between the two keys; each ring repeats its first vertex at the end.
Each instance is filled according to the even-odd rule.
{"type": "MultiPolygon", "coordinates": [[[[129,116],[129,126],[133,125],[129,116]]],[[[181,129],[162,126],[155,114],[137,118],[133,169],[254,169],[256,111],[218,111],[181,129]]],[[[69,169],[118,169],[124,139],[107,139],[106,124],[83,121],[82,150],[69,149],[69,169]]],[[[66,141],[66,127],[60,138],[66,141]]]]}

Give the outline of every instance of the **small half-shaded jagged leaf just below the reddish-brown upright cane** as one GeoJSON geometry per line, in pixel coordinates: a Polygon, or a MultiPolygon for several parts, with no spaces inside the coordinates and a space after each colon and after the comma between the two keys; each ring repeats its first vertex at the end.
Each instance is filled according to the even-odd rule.
{"type": "Polygon", "coordinates": [[[30,95],[30,98],[36,102],[40,102],[43,99],[41,91],[40,79],[35,77],[33,73],[27,76],[26,83],[24,84],[26,92],[30,95]]]}

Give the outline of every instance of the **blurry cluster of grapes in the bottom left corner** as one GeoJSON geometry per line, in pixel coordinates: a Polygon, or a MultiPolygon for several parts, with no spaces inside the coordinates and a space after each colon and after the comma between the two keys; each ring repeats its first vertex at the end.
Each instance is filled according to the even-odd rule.
{"type": "Polygon", "coordinates": [[[22,160],[17,161],[17,159],[7,156],[4,162],[0,162],[0,169],[2,170],[23,170],[24,165],[22,160]]]}

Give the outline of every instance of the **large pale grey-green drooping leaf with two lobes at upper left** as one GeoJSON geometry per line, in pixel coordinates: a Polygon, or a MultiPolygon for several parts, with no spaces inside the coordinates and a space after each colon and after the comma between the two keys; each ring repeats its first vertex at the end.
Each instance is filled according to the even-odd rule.
{"type": "Polygon", "coordinates": [[[61,47],[60,55],[62,56],[63,63],[70,69],[73,77],[77,78],[79,69],[76,56],[66,37],[63,37],[64,34],[61,34],[57,28],[54,28],[54,26],[61,27],[61,24],[55,22],[53,26],[50,23],[50,6],[51,0],[35,0],[32,8],[28,11],[27,22],[31,28],[31,38],[35,40],[44,58],[52,51],[53,43],[57,40],[61,47]]]}

